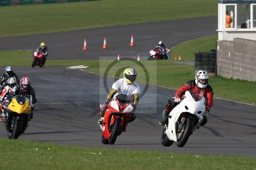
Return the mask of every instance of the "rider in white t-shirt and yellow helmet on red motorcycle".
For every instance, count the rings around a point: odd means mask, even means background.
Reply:
[[[98,124],[102,124],[103,116],[108,108],[108,103],[112,98],[116,98],[118,94],[126,94],[129,98],[133,98],[132,106],[134,110],[139,102],[140,86],[135,82],[137,73],[132,68],[127,68],[124,70],[124,78],[117,80],[113,85],[111,90],[108,92],[107,100],[100,104],[100,120]],[[131,118],[129,122],[133,122],[136,119],[136,115],[131,113]]]

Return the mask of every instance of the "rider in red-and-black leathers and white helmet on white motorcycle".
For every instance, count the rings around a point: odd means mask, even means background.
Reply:
[[[168,115],[172,111],[174,107],[180,102],[180,98],[185,94],[186,91],[190,89],[199,89],[203,92],[203,95],[206,99],[205,105],[205,112],[209,114],[210,108],[213,105],[213,90],[211,85],[208,84],[209,81],[209,74],[204,70],[199,70],[196,73],[195,80],[190,80],[186,82],[183,86],[180,87],[179,90],[175,93],[174,99],[169,99],[165,102],[165,108],[163,112],[163,120],[159,121],[159,124],[162,126],[165,125],[168,121]],[[207,122],[207,117],[203,115],[203,121],[201,122],[200,126],[204,126]]]

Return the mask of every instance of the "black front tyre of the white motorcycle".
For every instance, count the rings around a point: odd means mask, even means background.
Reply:
[[[191,118],[187,117],[185,119],[183,129],[184,130],[183,130],[180,138],[178,139],[178,137],[177,137],[177,146],[178,147],[183,147],[188,141],[188,137],[190,136],[190,133],[193,129],[193,121]]]

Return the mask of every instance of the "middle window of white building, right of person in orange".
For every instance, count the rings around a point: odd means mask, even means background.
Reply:
[[[249,4],[237,4],[237,28],[250,28],[250,11]]]

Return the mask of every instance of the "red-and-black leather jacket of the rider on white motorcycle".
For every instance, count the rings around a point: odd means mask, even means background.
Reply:
[[[206,100],[205,106],[208,106],[210,109],[213,105],[213,100],[212,100],[213,90],[209,84],[206,86],[206,88],[202,89],[202,88],[197,87],[195,80],[190,80],[190,81],[186,82],[183,86],[181,86],[179,90],[176,91],[175,97],[176,96],[182,97],[186,91],[188,91],[190,89],[195,89],[195,88],[197,88],[203,92],[204,98]],[[197,89],[195,89],[195,90],[197,90]]]

